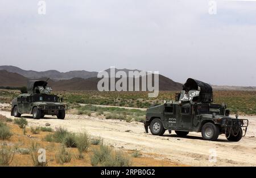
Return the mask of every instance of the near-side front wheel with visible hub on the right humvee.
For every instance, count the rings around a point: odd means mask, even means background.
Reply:
[[[204,140],[217,140],[218,135],[220,134],[220,130],[216,125],[211,122],[205,123],[201,130],[202,136]]]

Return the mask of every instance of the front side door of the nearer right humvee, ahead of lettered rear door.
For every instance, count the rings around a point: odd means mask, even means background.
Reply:
[[[181,106],[181,128],[192,129],[192,110],[191,106]]]

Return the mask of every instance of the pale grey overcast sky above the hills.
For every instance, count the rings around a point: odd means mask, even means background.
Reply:
[[[0,65],[61,72],[159,71],[256,86],[256,1],[0,1]]]

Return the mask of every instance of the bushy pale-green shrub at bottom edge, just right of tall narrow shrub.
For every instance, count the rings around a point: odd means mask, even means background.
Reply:
[[[90,163],[93,166],[103,164],[104,162],[106,162],[107,159],[109,159],[111,152],[112,148],[104,144],[101,144],[100,148],[95,148],[93,150],[93,154],[90,157]]]

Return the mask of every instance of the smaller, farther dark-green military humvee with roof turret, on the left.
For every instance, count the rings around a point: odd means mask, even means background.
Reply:
[[[20,117],[21,114],[32,114],[34,119],[44,115],[57,115],[58,119],[65,118],[67,105],[61,104],[62,98],[50,94],[51,87],[47,81],[28,81],[28,93],[20,94],[11,101],[11,115]]]

